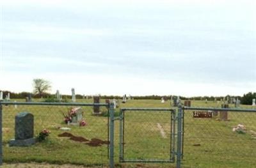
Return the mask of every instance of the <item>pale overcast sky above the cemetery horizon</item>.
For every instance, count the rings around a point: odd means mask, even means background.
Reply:
[[[256,3],[6,1],[0,89],[71,95],[256,92]]]

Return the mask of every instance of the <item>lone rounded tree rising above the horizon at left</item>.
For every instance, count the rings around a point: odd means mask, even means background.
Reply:
[[[33,92],[41,97],[51,89],[51,84],[49,81],[44,79],[33,79],[33,88]]]

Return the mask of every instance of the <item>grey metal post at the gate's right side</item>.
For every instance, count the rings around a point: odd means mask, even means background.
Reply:
[[[179,105],[178,107],[178,130],[177,130],[177,168],[181,167],[181,148],[182,148],[182,113],[183,113],[183,109],[182,106]]]

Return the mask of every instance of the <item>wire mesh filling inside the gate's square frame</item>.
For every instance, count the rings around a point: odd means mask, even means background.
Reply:
[[[172,111],[124,109],[123,112],[121,161],[173,162]]]

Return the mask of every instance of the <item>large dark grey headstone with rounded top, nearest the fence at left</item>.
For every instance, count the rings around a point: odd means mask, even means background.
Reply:
[[[20,112],[15,116],[15,139],[10,146],[31,146],[35,144],[34,116],[28,112]]]

